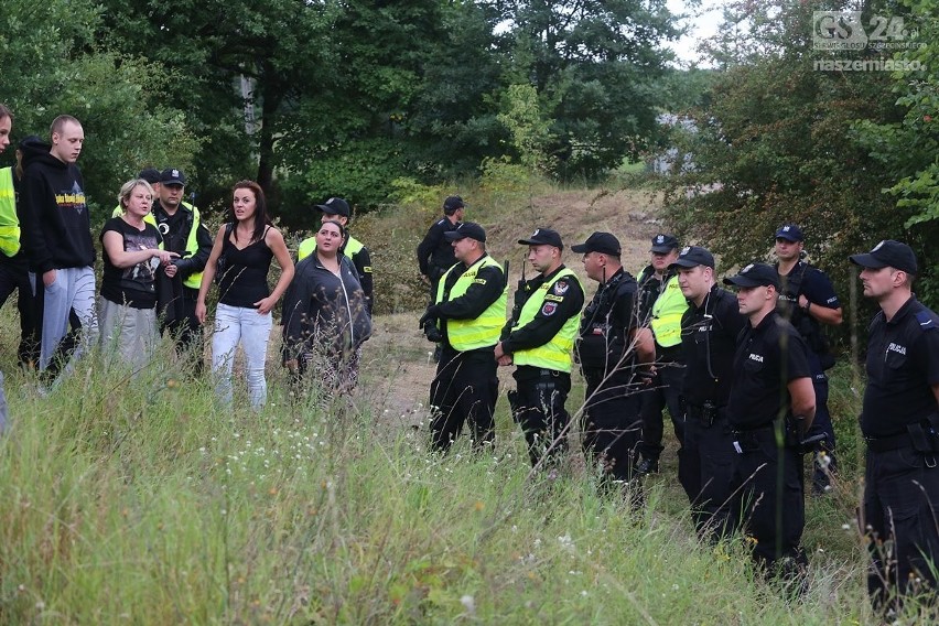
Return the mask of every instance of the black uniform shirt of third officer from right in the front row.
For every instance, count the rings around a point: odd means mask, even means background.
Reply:
[[[689,404],[727,403],[737,337],[746,326],[736,296],[716,284],[702,306],[689,305],[681,319],[681,349],[687,365],[682,389]]]

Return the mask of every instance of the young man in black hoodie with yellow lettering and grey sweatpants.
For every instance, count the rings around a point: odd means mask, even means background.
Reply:
[[[95,246],[85,181],[75,164],[85,132],[72,116],[52,122],[52,145],[28,144],[23,153],[23,247],[35,273],[42,311],[40,371],[57,371],[97,338]],[[68,326],[72,325],[72,333]]]

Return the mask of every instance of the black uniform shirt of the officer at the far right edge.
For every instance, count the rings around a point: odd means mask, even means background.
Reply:
[[[939,316],[916,296],[887,322],[874,316],[867,342],[867,387],[861,430],[864,436],[906,432],[937,412],[932,385],[939,382]]]

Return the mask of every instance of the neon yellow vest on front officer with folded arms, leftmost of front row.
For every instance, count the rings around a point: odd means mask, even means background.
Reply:
[[[436,285],[436,303],[443,302],[444,284],[446,277],[457,266],[453,266]],[[456,279],[453,288],[450,290],[449,300],[455,300],[466,293],[470,285],[476,281],[476,274],[483,268],[496,267],[503,271],[503,267],[493,260],[492,257],[483,257],[471,266],[463,274]],[[503,290],[501,294],[495,302],[479,314],[475,320],[447,320],[446,336],[450,338],[450,345],[460,352],[495,346],[499,343],[499,333],[506,323],[506,301],[508,300],[508,285]]]

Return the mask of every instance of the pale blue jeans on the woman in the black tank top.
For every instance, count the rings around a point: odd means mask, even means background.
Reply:
[[[215,310],[215,334],[212,337],[212,371],[216,377],[215,392],[230,404],[231,367],[238,343],[245,350],[245,377],[251,407],[260,409],[268,399],[265,361],[273,320],[261,315],[257,309],[219,304]]]

